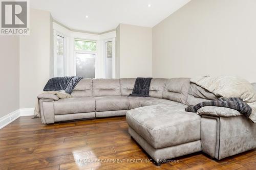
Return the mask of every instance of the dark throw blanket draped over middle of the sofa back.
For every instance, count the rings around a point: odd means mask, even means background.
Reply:
[[[150,83],[152,78],[138,77],[135,81],[133,92],[129,96],[148,97],[150,96]]]

